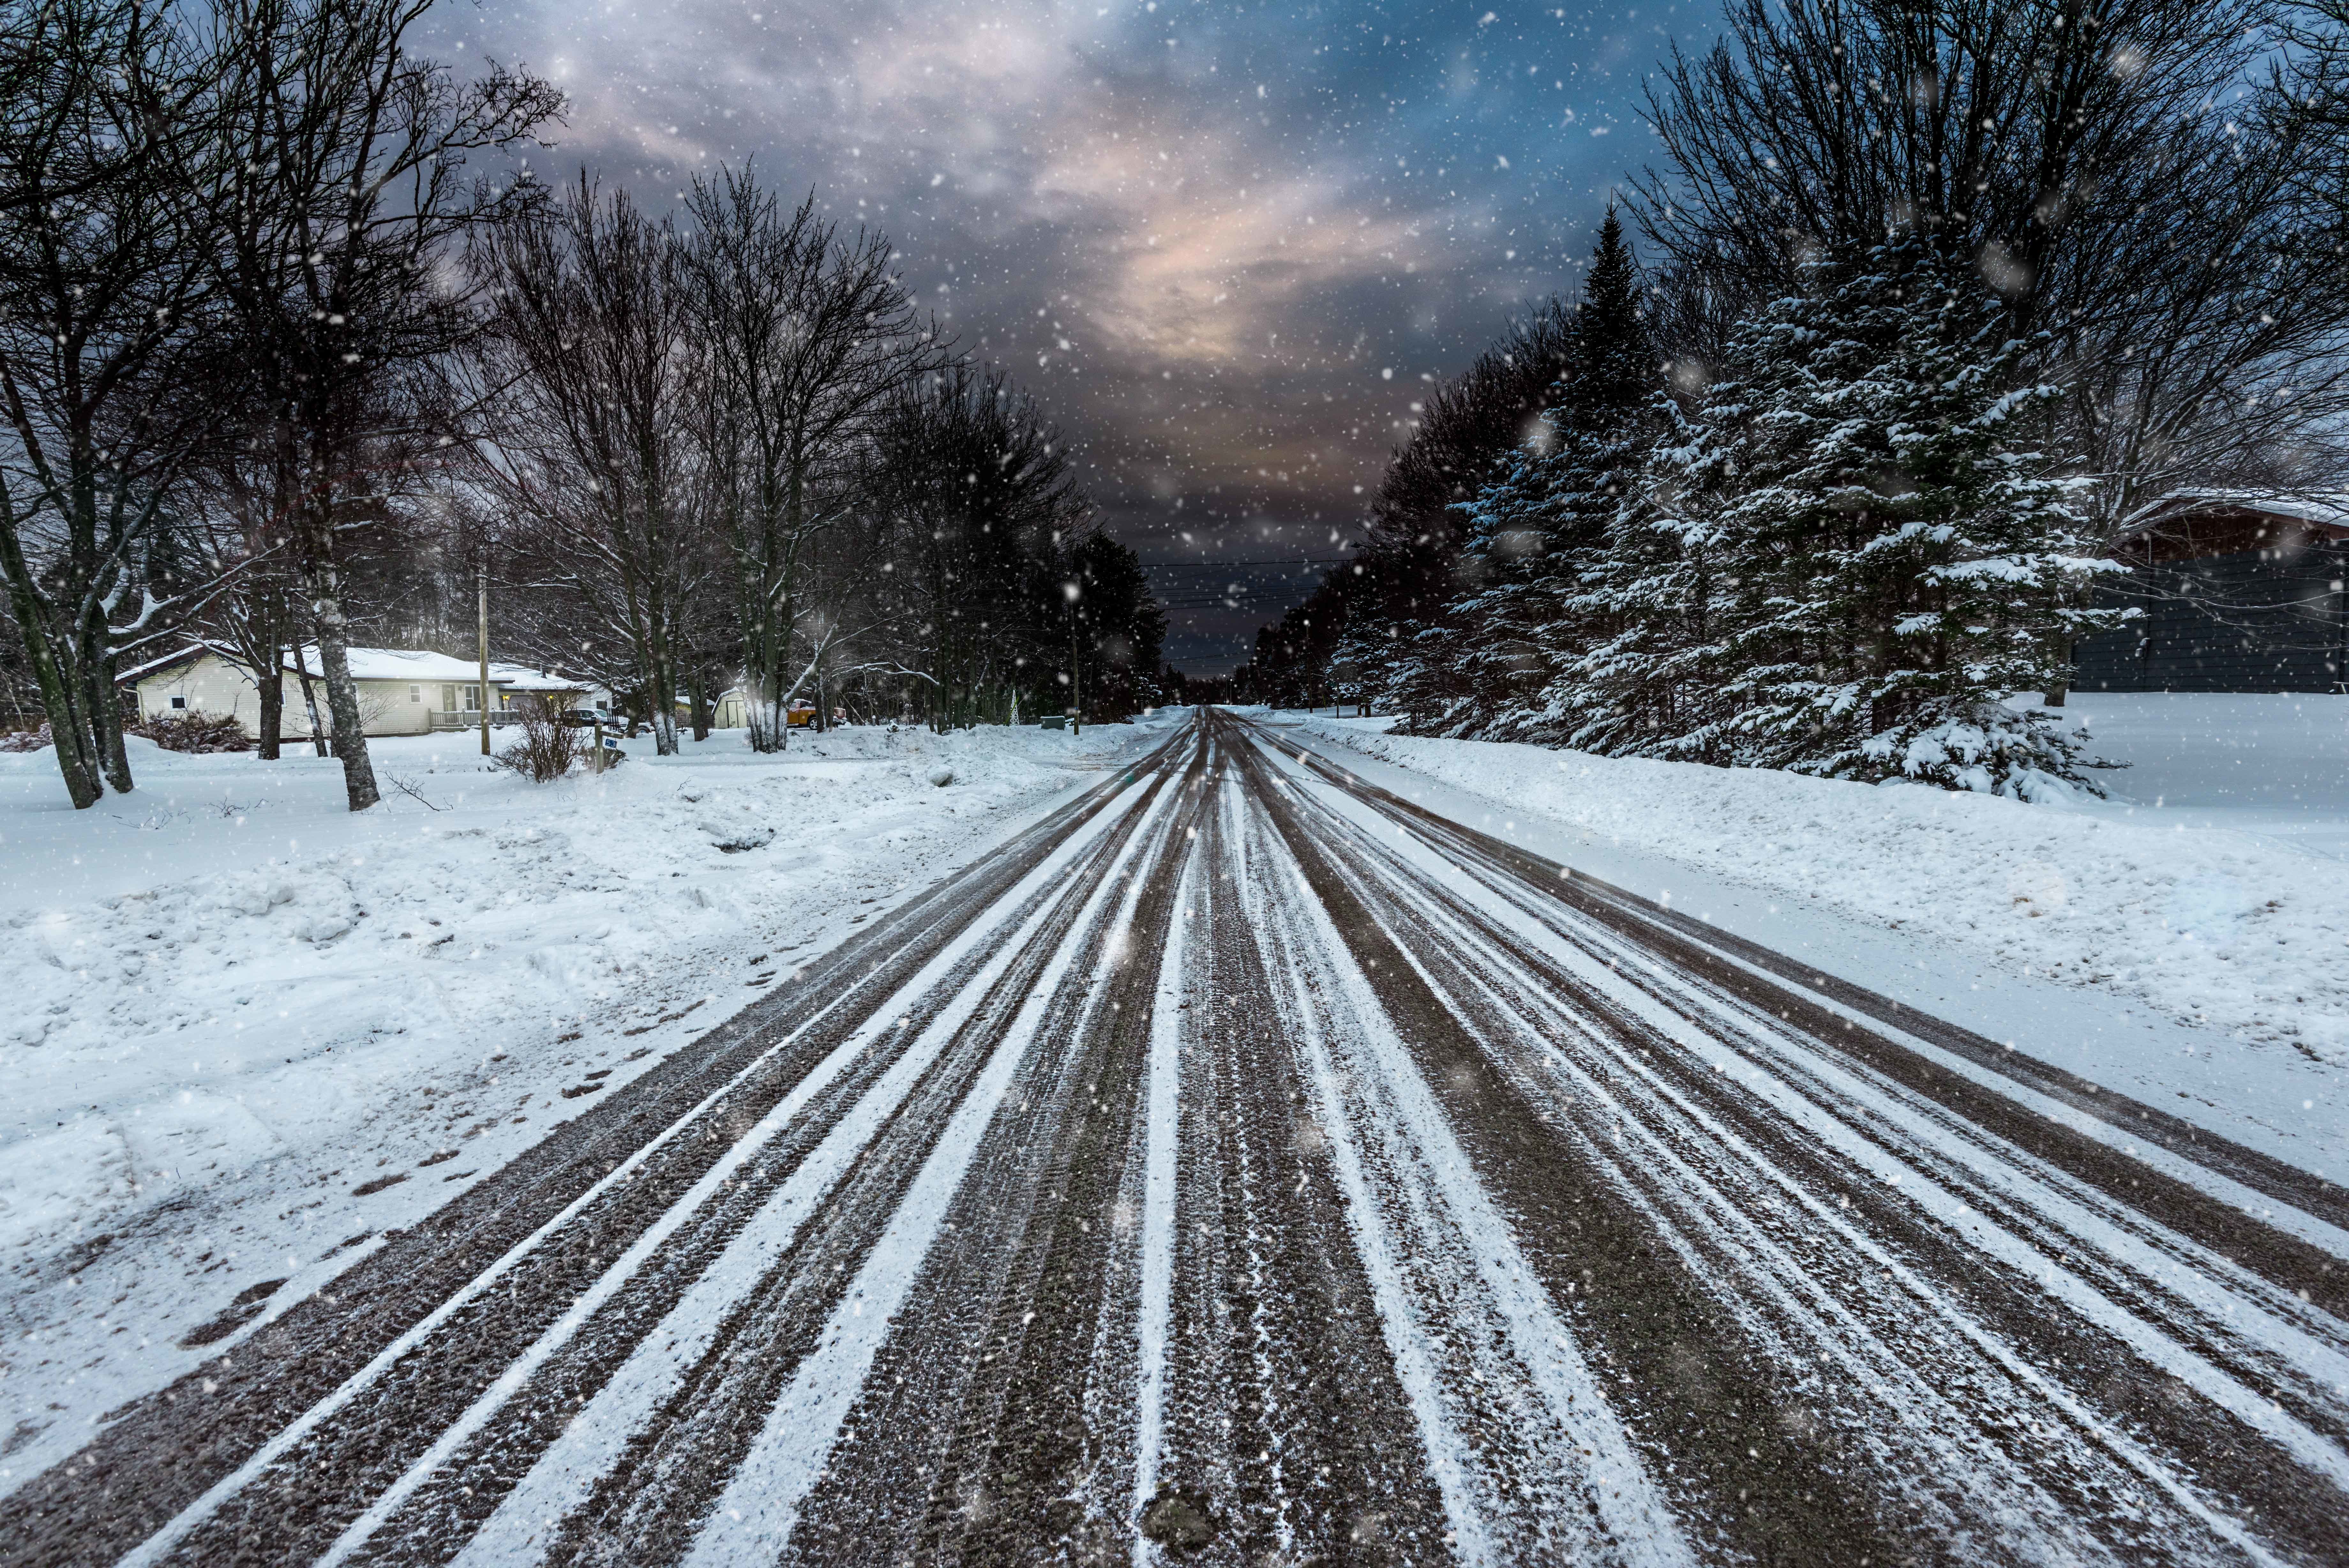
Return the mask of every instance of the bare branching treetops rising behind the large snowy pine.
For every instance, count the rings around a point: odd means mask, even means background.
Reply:
[[[2107,531],[2178,482],[2316,458],[2349,414],[2349,275],[2302,200],[2323,139],[2253,94],[2274,9],[1734,0],[1729,40],[1651,92],[1668,341],[1907,228],[2044,334],[2027,374],[2067,388],[2060,449]]]

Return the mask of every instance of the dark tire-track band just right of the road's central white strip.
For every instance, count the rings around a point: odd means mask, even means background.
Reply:
[[[1233,882],[1243,811],[1221,788],[1189,905],[1151,1507],[1184,1563],[1440,1559],[1442,1497]]]

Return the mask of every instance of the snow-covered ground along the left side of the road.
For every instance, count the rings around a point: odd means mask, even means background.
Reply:
[[[308,748],[134,741],[82,813],[0,757],[0,1490],[1170,722],[726,731],[554,785],[392,738],[364,816]]]

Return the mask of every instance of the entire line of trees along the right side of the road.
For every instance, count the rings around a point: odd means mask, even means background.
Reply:
[[[1362,559],[1243,682],[1426,733],[2084,780],[2008,698],[2060,705],[2121,621],[2121,522],[2340,477],[2344,61],[2337,12],[2257,0],[1736,0],[1651,101],[1651,270],[1609,216],[1541,416],[1555,308],[1431,404]]]

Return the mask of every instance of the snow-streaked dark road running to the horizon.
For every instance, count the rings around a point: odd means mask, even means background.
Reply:
[[[2349,1194],[1224,715],[9,1563],[2349,1561]]]

